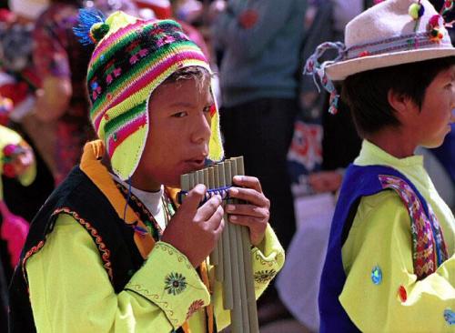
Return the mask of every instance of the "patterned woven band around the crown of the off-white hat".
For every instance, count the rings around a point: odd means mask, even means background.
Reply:
[[[434,37],[430,32],[410,35],[399,35],[375,43],[353,45],[343,53],[342,60],[350,60],[369,55],[382,55],[390,52],[409,51],[413,49],[429,48],[429,45],[452,47],[450,40]]]

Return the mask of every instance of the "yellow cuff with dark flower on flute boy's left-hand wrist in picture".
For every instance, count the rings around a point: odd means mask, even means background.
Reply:
[[[126,285],[161,308],[174,328],[179,328],[210,295],[187,257],[175,247],[157,242],[147,262]]]

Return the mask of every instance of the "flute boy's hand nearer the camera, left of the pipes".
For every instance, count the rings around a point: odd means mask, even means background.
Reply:
[[[224,227],[221,197],[211,197],[198,207],[205,193],[203,185],[189,191],[161,237],[187,256],[193,267],[198,267],[210,254]]]

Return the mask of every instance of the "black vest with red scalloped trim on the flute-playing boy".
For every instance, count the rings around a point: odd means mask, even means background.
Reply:
[[[56,211],[60,211],[62,208],[77,214],[79,223],[86,227],[89,235],[94,239],[101,257],[106,253],[106,249],[109,251],[108,260],[111,269],[108,273],[116,293],[123,290],[131,275],[144,262],[133,238],[134,229],[118,217],[116,210],[105,195],[76,166],[66,177],[64,183],[57,187],[47,199],[32,221],[20,264],[15,268],[9,290],[10,332],[36,331],[28,296],[28,284],[24,275],[24,258],[26,261],[26,258],[39,250],[40,242],[43,244],[45,237],[54,228],[58,215]],[[101,237],[105,247],[100,247],[98,244],[100,238],[97,242],[92,230],[96,230],[97,236]],[[71,260],[71,257],[68,257],[68,260]]]

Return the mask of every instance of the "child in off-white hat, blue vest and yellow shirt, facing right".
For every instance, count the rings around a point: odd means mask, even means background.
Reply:
[[[331,94],[343,81],[363,145],[332,221],[319,289],[321,332],[453,332],[455,219],[417,146],[440,146],[455,121],[455,48],[427,0],[386,0],[319,45],[306,72]],[[326,49],[334,61],[319,64]]]

